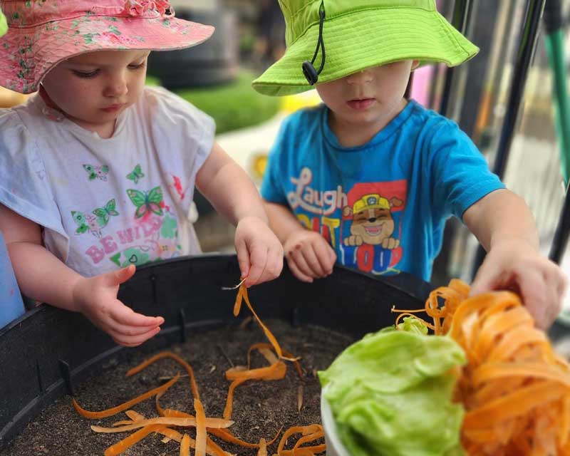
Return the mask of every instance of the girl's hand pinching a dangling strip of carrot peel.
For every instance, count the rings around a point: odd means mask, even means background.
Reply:
[[[276,279],[283,269],[283,247],[266,222],[244,217],[236,227],[235,246],[246,286]]]

